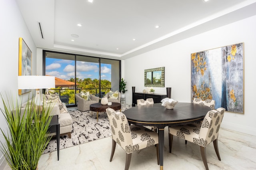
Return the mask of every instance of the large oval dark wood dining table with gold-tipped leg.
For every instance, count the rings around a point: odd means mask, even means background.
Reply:
[[[158,127],[160,170],[164,169],[164,128],[202,121],[211,108],[194,103],[177,103],[174,109],[166,109],[162,103],[135,106],[123,113],[130,124]]]

